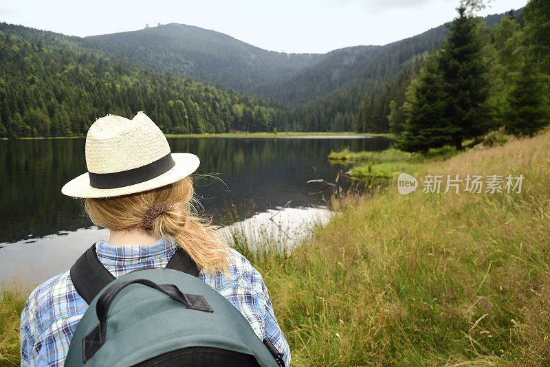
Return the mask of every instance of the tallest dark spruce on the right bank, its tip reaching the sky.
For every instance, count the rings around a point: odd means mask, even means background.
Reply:
[[[463,4],[457,9],[459,16],[451,23],[438,58],[445,91],[443,115],[455,128],[452,142],[457,149],[462,148],[463,140],[489,129],[485,104],[489,94],[487,62],[483,55],[481,20],[472,14],[473,11],[468,12]]]

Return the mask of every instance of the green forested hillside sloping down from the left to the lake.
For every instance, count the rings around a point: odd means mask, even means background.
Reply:
[[[140,110],[165,133],[272,131],[278,113],[234,91],[82,52],[63,35],[0,25],[0,137],[81,135],[102,115]]]

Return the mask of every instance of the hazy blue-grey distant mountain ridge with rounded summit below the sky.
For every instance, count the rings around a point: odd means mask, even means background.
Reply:
[[[501,16],[493,14],[484,20],[492,26]],[[89,52],[295,107],[345,89],[358,78],[365,80],[369,70],[382,71],[386,81],[396,78],[402,68],[396,68],[395,63],[405,65],[410,58],[439,47],[445,34],[446,27],[441,25],[384,46],[345,47],[327,54],[286,54],[254,47],[213,30],[171,23],[78,38],[76,43]],[[388,60],[388,53],[397,55],[397,59],[390,57],[393,64],[377,65]]]

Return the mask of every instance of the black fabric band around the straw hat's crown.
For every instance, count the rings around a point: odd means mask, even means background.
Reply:
[[[161,159],[157,159],[155,162],[146,164],[142,167],[132,168],[131,170],[123,170],[122,172],[114,173],[91,173],[90,186],[93,188],[122,188],[124,186],[135,185],[154,179],[168,172],[170,168],[175,166],[176,162],[172,158],[172,153],[168,153]]]

